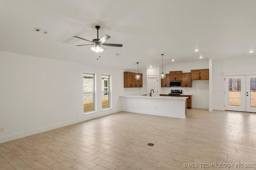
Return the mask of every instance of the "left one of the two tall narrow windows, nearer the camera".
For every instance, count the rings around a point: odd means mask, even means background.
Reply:
[[[84,113],[95,111],[94,74],[84,73]]]

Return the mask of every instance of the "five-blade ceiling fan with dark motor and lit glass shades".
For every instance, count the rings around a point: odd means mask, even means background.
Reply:
[[[91,44],[83,44],[83,45],[76,45],[76,46],[94,45],[93,47],[91,47],[91,50],[94,51],[95,53],[100,53],[105,50],[105,48],[102,45],[113,46],[113,47],[122,47],[123,46],[122,44],[104,43],[106,40],[108,40],[110,38],[110,36],[105,35],[101,39],[99,39],[100,26],[95,26],[95,28],[97,29],[97,39],[93,39],[92,41],[90,41],[90,40],[86,40],[86,39],[78,37],[78,36],[74,36],[74,38],[79,38],[81,40],[91,42]]]

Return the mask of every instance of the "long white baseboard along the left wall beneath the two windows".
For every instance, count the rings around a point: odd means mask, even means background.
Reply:
[[[16,133],[16,134],[10,134],[10,135],[7,135],[7,136],[2,136],[2,137],[0,137],[0,143],[8,142],[10,140],[15,140],[15,139],[18,139],[18,138],[23,138],[23,137],[30,136],[30,135],[37,134],[37,133],[41,133],[41,132],[46,132],[48,130],[52,130],[52,129],[55,129],[55,128],[60,128],[60,127],[72,125],[72,124],[75,124],[75,123],[88,121],[90,119],[95,119],[95,118],[98,118],[98,117],[110,115],[110,114],[120,112],[120,111],[122,111],[122,109],[115,109],[115,110],[111,109],[109,111],[95,112],[94,114],[89,113],[88,115],[85,114],[84,117],[82,117],[82,118],[80,117],[79,119],[74,119],[74,120],[71,120],[71,121],[62,122],[62,123],[58,123],[58,124],[55,124],[55,125],[50,125],[50,126],[47,126],[47,127],[41,127],[41,128],[28,130],[28,131],[25,131],[25,132],[19,132],[19,133]]]

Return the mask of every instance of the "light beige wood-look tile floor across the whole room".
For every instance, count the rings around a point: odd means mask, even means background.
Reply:
[[[244,169],[255,170],[256,114],[188,109],[186,119],[176,119],[119,112],[0,144],[1,170],[242,169],[212,163],[251,163]]]

